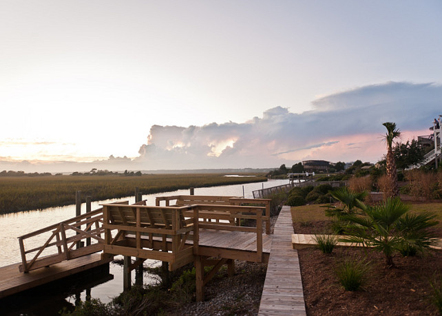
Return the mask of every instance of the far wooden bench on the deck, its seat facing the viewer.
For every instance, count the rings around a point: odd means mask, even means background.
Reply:
[[[253,206],[264,207],[262,214],[262,221],[266,224],[266,234],[270,234],[270,199],[246,199],[235,196],[160,196],[155,200],[156,206],[160,206],[161,202],[165,202],[165,206],[183,206],[194,204],[215,204],[215,205],[236,205],[236,206]],[[220,221],[229,221],[231,224],[236,223],[240,226],[241,221],[231,218],[229,213],[223,213],[223,211],[216,211],[215,214],[212,211],[200,210],[200,218],[208,221],[211,218],[213,221],[220,223]],[[213,216],[216,215],[216,216]]]

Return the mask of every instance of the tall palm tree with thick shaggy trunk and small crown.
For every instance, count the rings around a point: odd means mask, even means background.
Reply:
[[[399,187],[397,185],[397,170],[396,161],[394,160],[393,154],[393,141],[401,136],[401,131],[396,128],[396,123],[386,122],[382,124],[387,129],[387,134],[384,136],[387,142],[387,158],[386,158],[386,169],[387,177],[390,182],[388,192],[386,192],[386,197],[394,198],[399,196]]]

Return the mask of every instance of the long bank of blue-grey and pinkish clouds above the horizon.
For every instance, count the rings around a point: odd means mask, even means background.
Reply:
[[[45,171],[81,171],[93,167],[265,168],[282,163],[291,166],[306,159],[376,162],[385,153],[381,136],[386,129],[382,123],[397,123],[403,140],[430,134],[432,120],[442,114],[441,104],[442,86],[435,83],[367,85],[318,98],[313,101],[313,110],[302,114],[277,106],[244,123],[153,125],[147,142],[140,146],[139,156],[133,159],[110,156],[89,163],[60,161],[37,165]],[[3,161],[0,168],[35,171],[36,164]]]

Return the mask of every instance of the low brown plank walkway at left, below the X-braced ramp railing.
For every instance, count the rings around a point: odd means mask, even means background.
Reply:
[[[65,260],[28,273],[19,271],[20,264],[3,266],[0,268],[0,298],[59,280],[63,277],[83,272],[109,262],[110,260],[101,260],[101,253],[94,253],[72,260]]]

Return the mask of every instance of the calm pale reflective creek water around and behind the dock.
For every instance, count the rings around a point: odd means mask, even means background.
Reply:
[[[277,185],[285,185],[288,180],[269,180],[268,182],[256,182],[248,183],[244,185],[227,185],[222,187],[208,187],[208,188],[196,188],[195,195],[200,196],[243,196],[245,198],[253,198],[252,191],[275,187]],[[73,192],[74,194],[74,192]],[[189,190],[178,190],[165,193],[155,193],[143,196],[143,200],[147,199],[148,205],[155,205],[155,198],[157,196],[171,196],[171,195],[187,195]],[[134,197],[120,198],[118,200],[129,200],[129,203],[134,203]],[[99,202],[92,202],[92,210],[97,209],[99,204],[105,202],[115,202],[116,200],[103,200]],[[85,204],[81,206],[82,213],[85,212]],[[43,209],[41,211],[25,211],[19,213],[10,213],[6,215],[0,215],[0,266],[6,266],[9,264],[15,264],[21,262],[20,248],[18,237],[48,227],[52,224],[56,224],[63,220],[73,218],[75,216],[75,205],[68,205],[66,207],[52,207],[50,209]],[[31,243],[26,243],[26,249],[30,249],[33,246],[41,246],[46,238],[34,239]],[[34,244],[32,244],[34,243]],[[145,266],[156,266],[160,262],[154,260],[147,260]],[[91,290],[91,295],[94,298],[101,299],[102,302],[109,302],[112,297],[120,294],[123,291],[123,274],[122,266],[118,264],[110,264],[110,273],[114,275],[114,280],[110,280],[98,286],[94,286]],[[134,277],[134,273],[132,273]],[[149,278],[149,275],[145,275],[145,283],[155,282]],[[134,280],[133,280],[134,281]],[[85,299],[85,291],[81,293],[81,299]],[[66,297],[67,302],[74,303],[75,297]]]

